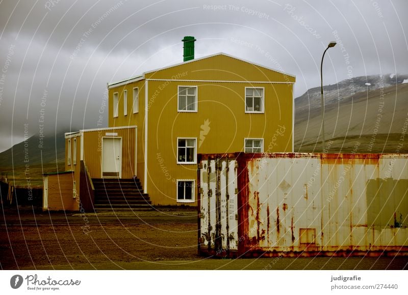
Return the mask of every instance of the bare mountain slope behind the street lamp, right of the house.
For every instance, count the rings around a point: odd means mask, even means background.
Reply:
[[[339,89],[341,89],[340,93],[344,94],[347,82],[342,82],[339,83],[342,85]],[[378,82],[373,82],[378,85]],[[315,95],[316,91],[309,93],[314,97],[314,103],[311,104],[310,109],[304,107],[304,95],[299,97],[299,102],[296,104],[294,128],[296,152],[322,150],[319,137],[320,103],[316,101],[320,100],[320,93],[318,95]],[[315,98],[316,96],[319,98]],[[331,93],[329,92],[330,98],[327,103],[325,99],[325,105],[327,105],[325,139],[326,147],[329,145],[329,152],[351,152],[356,143],[360,144],[358,153],[408,152],[408,142],[400,141],[404,122],[408,119],[408,84],[398,83],[385,88],[379,87],[376,90],[359,92],[349,97],[338,96],[334,99],[334,96],[332,90]],[[330,143],[330,139],[333,142]]]

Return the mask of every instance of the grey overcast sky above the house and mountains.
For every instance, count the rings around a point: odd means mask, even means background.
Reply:
[[[325,84],[406,74],[407,11],[406,0],[2,1],[0,151],[24,124],[29,135],[95,128],[107,82],[182,62],[184,36],[196,57],[225,52],[296,75],[296,97],[320,84],[332,40]]]

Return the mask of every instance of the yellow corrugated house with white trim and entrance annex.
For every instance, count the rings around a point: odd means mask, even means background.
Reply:
[[[77,138],[91,182],[135,176],[153,205],[196,206],[198,154],[293,152],[294,82],[225,53],[148,71],[108,84],[109,127],[67,134],[66,150]]]

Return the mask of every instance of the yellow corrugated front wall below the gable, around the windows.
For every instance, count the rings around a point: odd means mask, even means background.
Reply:
[[[198,86],[198,112],[177,112],[178,85]],[[196,165],[176,163],[177,137],[196,137],[198,153],[243,151],[244,138],[264,138],[265,152],[292,151],[292,85],[257,85],[265,87],[264,114],[245,113],[245,86],[251,85],[149,81],[155,101],[148,119],[148,193],[154,204],[180,204],[176,180],[196,179]]]

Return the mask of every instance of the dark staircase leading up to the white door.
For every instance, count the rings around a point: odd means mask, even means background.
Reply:
[[[139,179],[92,179],[96,211],[151,210],[148,194],[143,193]]]

